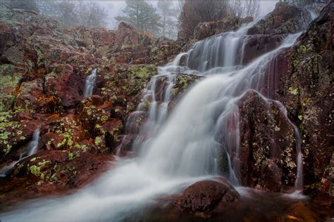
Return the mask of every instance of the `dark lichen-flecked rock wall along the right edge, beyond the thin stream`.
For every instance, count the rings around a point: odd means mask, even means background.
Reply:
[[[333,2],[287,51],[280,100],[302,134],[304,183],[326,190],[333,155]]]

